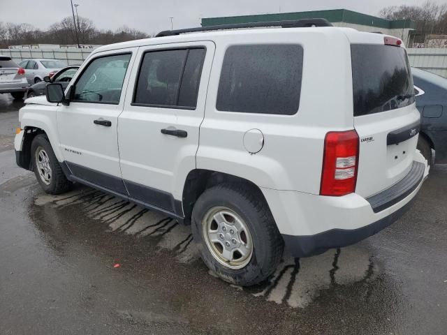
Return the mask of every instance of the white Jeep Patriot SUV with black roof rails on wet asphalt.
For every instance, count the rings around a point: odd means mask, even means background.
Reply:
[[[428,174],[402,41],[321,19],[105,45],[46,94],[20,110],[17,164],[47,193],[78,182],[191,224],[237,285],[268,278],[284,247],[386,228]]]

